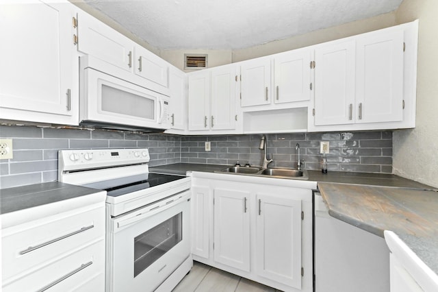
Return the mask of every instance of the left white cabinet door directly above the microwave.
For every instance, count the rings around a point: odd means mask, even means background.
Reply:
[[[86,12],[77,17],[77,49],[132,72],[134,42]]]

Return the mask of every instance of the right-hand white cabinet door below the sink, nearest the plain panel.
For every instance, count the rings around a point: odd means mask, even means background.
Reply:
[[[257,194],[257,274],[301,289],[301,201]]]

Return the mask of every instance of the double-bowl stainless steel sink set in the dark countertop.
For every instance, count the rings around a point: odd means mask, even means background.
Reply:
[[[309,180],[309,175],[307,175],[307,171],[287,168],[261,169],[261,167],[227,167],[226,169],[215,172],[255,175],[264,177],[269,176],[271,178],[290,178],[294,180]]]

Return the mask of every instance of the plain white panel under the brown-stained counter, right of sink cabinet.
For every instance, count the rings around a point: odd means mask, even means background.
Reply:
[[[315,292],[388,292],[385,239],[335,219],[315,193]]]

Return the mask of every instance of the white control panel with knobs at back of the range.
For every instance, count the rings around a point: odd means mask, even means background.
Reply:
[[[58,152],[60,171],[79,171],[135,165],[149,162],[149,150],[142,149],[75,149]]]

